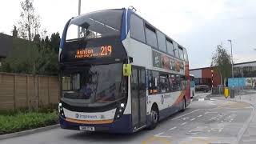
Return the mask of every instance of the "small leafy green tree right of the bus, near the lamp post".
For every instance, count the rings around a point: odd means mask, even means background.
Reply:
[[[222,82],[225,82],[226,78],[231,75],[230,54],[228,54],[222,46],[217,46],[217,50],[212,57],[210,66],[214,67],[214,70],[218,71],[221,75]]]

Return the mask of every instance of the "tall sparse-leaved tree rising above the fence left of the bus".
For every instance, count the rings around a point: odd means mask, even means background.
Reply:
[[[41,27],[39,15],[34,14],[33,0],[25,0],[21,2],[22,11],[21,19],[18,21],[19,37],[29,40],[34,39],[35,35],[39,34]]]

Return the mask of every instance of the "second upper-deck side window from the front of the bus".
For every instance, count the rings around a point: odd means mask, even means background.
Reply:
[[[146,43],[150,46],[158,47],[157,34],[155,33],[154,27],[145,23],[146,30]]]

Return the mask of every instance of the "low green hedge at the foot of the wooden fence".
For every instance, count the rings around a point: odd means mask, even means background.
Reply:
[[[30,130],[57,123],[58,112],[52,108],[0,111],[0,134]]]

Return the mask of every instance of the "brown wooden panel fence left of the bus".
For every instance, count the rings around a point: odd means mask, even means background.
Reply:
[[[0,110],[46,106],[58,100],[56,76],[0,73]]]

